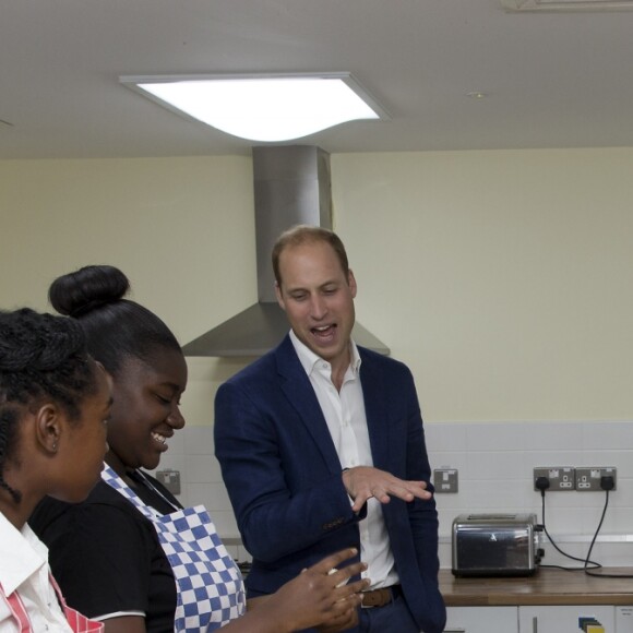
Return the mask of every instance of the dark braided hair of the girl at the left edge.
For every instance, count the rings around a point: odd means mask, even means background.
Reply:
[[[3,471],[16,449],[24,408],[51,398],[77,422],[82,402],[96,391],[96,365],[77,323],[28,308],[0,311],[0,488],[16,503],[22,495]]]

